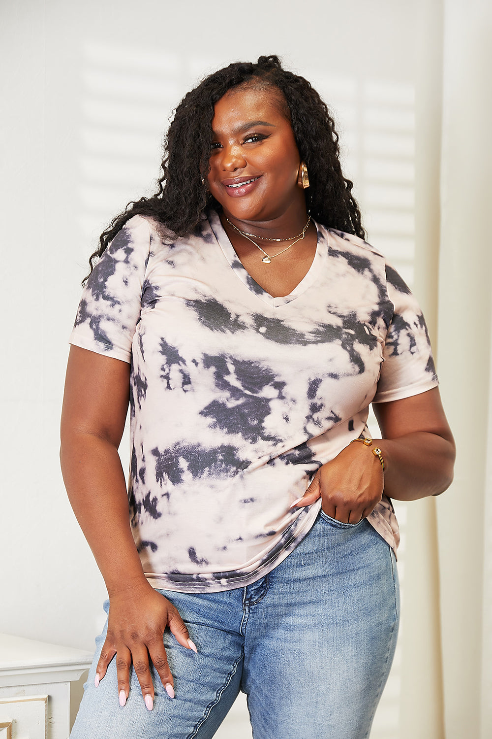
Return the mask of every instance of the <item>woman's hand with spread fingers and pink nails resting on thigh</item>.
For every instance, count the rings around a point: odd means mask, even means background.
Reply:
[[[108,633],[97,663],[96,687],[116,655],[119,703],[124,706],[130,692],[133,664],[145,705],[153,707],[154,689],[149,658],[170,698],[174,698],[173,675],[167,662],[163,634],[169,627],[177,641],[196,652],[187,627],[176,608],[148,582],[112,593],[109,599]]]

